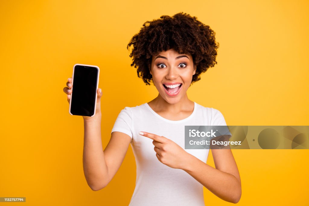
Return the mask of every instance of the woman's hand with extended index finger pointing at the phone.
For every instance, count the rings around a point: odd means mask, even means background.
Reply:
[[[139,133],[142,136],[153,139],[158,160],[171,168],[184,169],[189,161],[190,154],[171,139],[148,132]]]

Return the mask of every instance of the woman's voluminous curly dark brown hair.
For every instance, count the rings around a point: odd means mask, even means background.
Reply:
[[[192,55],[197,69],[190,85],[201,79],[201,73],[217,64],[219,43],[215,41],[215,32],[195,16],[183,12],[146,21],[139,33],[132,37],[127,49],[131,45],[131,67],[138,68],[138,77],[142,77],[146,85],[153,83],[150,74],[152,55],[156,56],[163,50],[175,49],[180,54]]]

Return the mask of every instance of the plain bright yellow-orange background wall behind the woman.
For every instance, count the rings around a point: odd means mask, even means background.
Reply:
[[[75,63],[100,67],[102,141],[117,115],[157,96],[126,49],[146,20],[186,12],[210,25],[218,64],[188,89],[227,125],[309,125],[308,1],[1,1],[0,196],[23,205],[128,205],[131,146],[92,191],[83,174],[83,119],[62,89]],[[307,205],[309,150],[233,150],[238,205]],[[214,166],[211,153],[208,164]],[[204,188],[206,205],[229,205]],[[0,203],[6,204],[6,203]]]

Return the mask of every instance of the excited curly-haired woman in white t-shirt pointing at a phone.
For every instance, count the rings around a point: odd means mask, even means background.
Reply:
[[[83,117],[83,166],[92,190],[111,181],[131,144],[137,178],[130,205],[205,205],[203,186],[222,200],[239,201],[241,182],[230,148],[212,150],[216,168],[206,164],[209,149],[184,149],[185,125],[226,126],[220,111],[189,100],[186,93],[217,63],[219,44],[214,35],[209,26],[181,12],[147,21],[133,36],[127,46],[133,45],[131,66],[159,94],[148,103],[121,110],[103,151],[98,89],[95,116]],[[67,86],[64,92],[70,101],[71,78]]]

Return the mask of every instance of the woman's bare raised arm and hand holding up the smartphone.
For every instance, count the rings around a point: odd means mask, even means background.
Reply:
[[[72,94],[72,78],[68,79],[63,91],[70,102]],[[87,184],[93,191],[104,188],[114,177],[125,158],[131,137],[122,132],[112,132],[105,150],[101,140],[101,89],[97,90],[96,112],[93,117],[84,119],[83,169]]]

